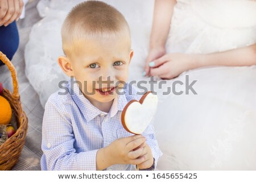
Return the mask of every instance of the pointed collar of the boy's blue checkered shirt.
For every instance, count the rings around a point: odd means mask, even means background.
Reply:
[[[97,117],[97,115],[105,113],[104,111],[101,111],[100,109],[98,109],[97,107],[95,107],[94,105],[92,105],[92,103],[90,103],[90,101],[84,97],[84,95],[82,94],[79,85],[76,84],[75,82],[75,78],[73,80],[74,84],[71,84],[71,81],[69,80],[68,82],[68,89],[69,89],[69,93],[71,94],[71,97],[73,99],[73,101],[75,101],[77,107],[79,107],[81,113],[84,115],[86,121],[92,121],[92,119],[94,119],[95,117]],[[125,92],[121,92],[120,94],[117,95],[117,97],[114,98],[112,107],[110,108],[110,117],[113,117],[115,114],[117,114],[117,111],[122,111],[123,108],[126,106],[127,104],[127,99],[125,96]]]

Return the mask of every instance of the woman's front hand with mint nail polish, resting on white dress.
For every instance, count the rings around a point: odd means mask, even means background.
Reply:
[[[182,72],[196,68],[194,63],[196,55],[171,53],[149,63],[150,76],[155,75],[163,79],[172,79]]]

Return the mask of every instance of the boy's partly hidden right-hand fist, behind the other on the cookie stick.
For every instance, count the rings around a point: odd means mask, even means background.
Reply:
[[[140,169],[147,169],[147,168],[150,168],[153,165],[154,158],[153,158],[153,155],[152,155],[151,148],[150,148],[150,146],[148,146],[148,144],[146,144],[143,147],[143,153],[140,156],[140,158],[144,158],[144,162],[138,164],[138,167]]]

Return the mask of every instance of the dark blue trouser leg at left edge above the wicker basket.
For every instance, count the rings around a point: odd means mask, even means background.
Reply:
[[[16,22],[9,24],[9,26],[0,27],[0,51],[2,51],[8,59],[13,59],[13,55],[19,47],[19,34]],[[0,66],[4,65],[0,61]]]

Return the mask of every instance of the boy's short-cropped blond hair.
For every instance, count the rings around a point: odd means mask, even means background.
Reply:
[[[131,46],[130,30],[125,17],[113,6],[101,1],[85,1],[73,7],[61,28],[65,55],[89,39],[119,38]]]

